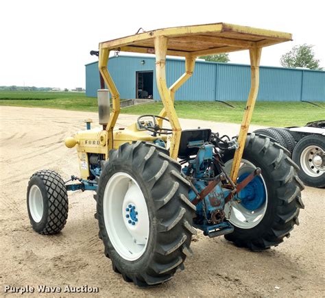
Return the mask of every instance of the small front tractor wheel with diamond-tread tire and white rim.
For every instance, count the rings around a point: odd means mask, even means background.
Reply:
[[[68,218],[67,188],[55,171],[38,171],[29,179],[27,211],[33,229],[39,234],[60,232]]]

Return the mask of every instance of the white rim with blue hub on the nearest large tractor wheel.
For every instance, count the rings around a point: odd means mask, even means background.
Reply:
[[[149,215],[141,188],[129,174],[115,173],[108,180],[103,214],[106,231],[117,253],[125,260],[139,259],[147,248]]]

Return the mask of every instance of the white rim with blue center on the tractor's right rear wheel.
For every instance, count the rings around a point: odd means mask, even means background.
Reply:
[[[225,164],[225,170],[227,173],[230,173],[231,166],[232,160],[228,160],[228,162]],[[244,175],[247,175],[247,173],[252,173],[252,171],[255,169],[256,166],[254,166],[252,162],[242,159],[238,173],[239,180],[241,180],[241,176],[244,178]],[[225,214],[228,216],[228,221],[230,221],[230,223],[232,223],[232,225],[235,227],[240,227],[241,229],[252,229],[252,227],[255,227],[258,225],[258,223],[261,223],[267,210],[267,188],[263,176],[259,175],[258,177],[255,177],[250,183],[263,184],[264,191],[261,192],[261,188],[258,190],[260,192],[258,194],[261,196],[263,195],[263,198],[257,198],[258,201],[254,203],[249,203],[248,201],[243,201],[243,203],[230,201],[224,208]],[[249,186],[250,184],[248,184],[246,187]],[[230,208],[230,206],[232,207]],[[256,209],[252,210],[252,206],[256,206]]]

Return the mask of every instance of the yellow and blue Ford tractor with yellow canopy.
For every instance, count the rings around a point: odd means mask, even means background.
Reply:
[[[191,256],[197,229],[238,247],[276,247],[298,225],[304,185],[285,147],[248,134],[258,93],[263,47],[291,34],[213,23],[171,27],[99,43],[99,127],[65,140],[77,149],[80,177],[65,181],[51,170],[29,179],[27,210],[39,234],[56,234],[68,216],[68,191],[92,190],[104,253],[126,282],[147,287],[171,280]],[[251,86],[238,136],[209,128],[182,130],[174,107],[178,88],[202,55],[248,50]],[[110,52],[151,53],[163,110],[139,116],[123,129],[116,123],[120,96],[108,71]],[[171,86],[166,56],[184,58],[184,74]],[[107,89],[106,89],[107,88]],[[110,111],[110,99],[112,110]],[[198,111],[200,112],[200,111]]]

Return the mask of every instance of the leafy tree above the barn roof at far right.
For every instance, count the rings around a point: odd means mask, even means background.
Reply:
[[[303,67],[305,69],[322,70],[320,60],[315,59],[313,45],[306,45],[305,43],[304,45],[296,45],[291,51],[282,55],[280,64],[290,69]]]

